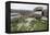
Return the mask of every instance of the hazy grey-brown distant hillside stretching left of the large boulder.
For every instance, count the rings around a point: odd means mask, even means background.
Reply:
[[[13,10],[11,9],[11,13],[20,13],[22,15],[32,15],[34,14],[34,11],[30,11],[30,10]]]

